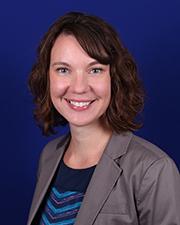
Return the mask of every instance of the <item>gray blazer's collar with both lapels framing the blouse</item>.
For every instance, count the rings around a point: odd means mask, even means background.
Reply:
[[[88,185],[75,225],[93,224],[103,203],[121,175],[122,169],[116,163],[116,159],[126,153],[132,135],[131,132],[121,135],[112,134]],[[43,164],[43,167],[46,169],[42,168],[40,173],[27,225],[31,225],[42,203],[69,140],[70,135],[61,138],[61,140],[57,139],[55,142],[52,142],[52,145],[48,145],[48,148],[51,148],[54,153]],[[98,198],[94,197],[95,193]]]

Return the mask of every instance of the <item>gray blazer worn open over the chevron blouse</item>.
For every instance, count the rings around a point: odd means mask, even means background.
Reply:
[[[47,192],[69,138],[42,152],[27,225]],[[89,183],[75,225],[180,225],[180,175],[155,145],[113,134]]]

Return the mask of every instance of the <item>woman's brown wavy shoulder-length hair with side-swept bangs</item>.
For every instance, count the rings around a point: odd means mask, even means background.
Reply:
[[[103,124],[116,133],[140,128],[142,124],[137,122],[137,114],[143,108],[144,90],[132,56],[117,32],[104,20],[70,12],[60,17],[44,35],[29,77],[35,103],[34,117],[43,133],[52,134],[55,126],[68,123],[52,104],[49,84],[51,49],[62,33],[73,35],[91,58],[110,65],[111,101],[102,116]]]

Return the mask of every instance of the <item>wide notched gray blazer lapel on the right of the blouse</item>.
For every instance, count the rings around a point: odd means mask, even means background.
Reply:
[[[130,132],[112,135],[87,188],[75,225],[92,225],[111,193],[122,169],[116,159],[126,153],[131,140]]]

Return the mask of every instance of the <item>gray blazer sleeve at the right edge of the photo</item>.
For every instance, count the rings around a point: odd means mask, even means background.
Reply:
[[[168,157],[147,169],[138,192],[141,225],[180,225],[180,174]]]

